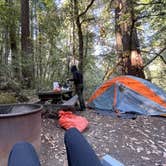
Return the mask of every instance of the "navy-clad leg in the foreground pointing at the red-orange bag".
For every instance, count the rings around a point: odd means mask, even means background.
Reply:
[[[65,133],[68,166],[102,166],[92,147],[76,128]]]

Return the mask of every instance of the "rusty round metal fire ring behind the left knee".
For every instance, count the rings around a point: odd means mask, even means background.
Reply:
[[[6,166],[9,152],[18,141],[32,143],[39,152],[41,105],[0,105],[0,166]]]

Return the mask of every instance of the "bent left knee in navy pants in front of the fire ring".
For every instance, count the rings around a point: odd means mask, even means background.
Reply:
[[[40,166],[34,147],[28,142],[16,143],[9,155],[8,166]]]

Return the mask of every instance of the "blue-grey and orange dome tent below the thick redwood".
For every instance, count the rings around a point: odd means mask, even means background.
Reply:
[[[166,93],[147,80],[119,76],[103,83],[90,97],[88,106],[107,112],[165,115]]]

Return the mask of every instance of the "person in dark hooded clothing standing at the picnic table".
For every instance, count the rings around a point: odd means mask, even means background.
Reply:
[[[78,95],[80,109],[82,111],[85,111],[86,107],[85,107],[85,102],[84,102],[84,98],[83,98],[83,76],[77,70],[77,67],[75,65],[71,66],[71,73],[73,75],[73,78],[69,79],[69,81],[74,82],[75,93]]]

